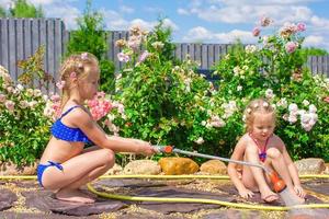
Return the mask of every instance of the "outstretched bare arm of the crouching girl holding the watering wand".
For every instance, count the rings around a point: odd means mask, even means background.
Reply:
[[[101,148],[109,148],[114,152],[135,152],[146,153],[148,155],[155,153],[150,143],[146,141],[133,138],[106,136],[104,130],[81,108],[77,108],[71,114],[71,120],[92,142]]]

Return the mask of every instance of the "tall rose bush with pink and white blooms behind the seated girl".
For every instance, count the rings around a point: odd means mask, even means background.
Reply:
[[[265,20],[262,27],[272,22]],[[270,36],[261,36],[262,27],[257,27],[253,34],[259,37],[258,45],[236,49],[215,67],[215,73],[220,77],[216,100],[236,101],[239,108],[224,129],[230,139],[239,138],[245,131],[243,108],[250,100],[265,97],[277,110],[275,132],[292,157],[328,160],[329,105],[326,97],[329,81],[320,76],[313,77],[303,66],[306,60],[300,48],[305,24],[286,23]],[[236,143],[226,142],[227,148]]]

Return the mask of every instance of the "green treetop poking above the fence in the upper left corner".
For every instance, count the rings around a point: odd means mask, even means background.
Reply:
[[[35,7],[26,0],[14,0],[13,8],[9,10],[10,16],[13,18],[44,18],[42,7]]]

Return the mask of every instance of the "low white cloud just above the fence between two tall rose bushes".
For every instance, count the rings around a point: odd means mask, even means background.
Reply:
[[[241,39],[242,43],[256,43],[256,38],[250,32],[232,30],[227,33],[213,33],[203,26],[196,26],[191,28],[183,37],[183,42],[205,42],[205,43],[218,43],[228,44],[234,43],[236,39]]]

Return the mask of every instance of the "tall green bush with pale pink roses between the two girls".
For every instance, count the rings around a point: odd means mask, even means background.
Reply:
[[[128,42],[117,42],[123,47],[118,59],[125,67],[117,76],[113,99],[123,104],[124,116],[112,111],[102,126],[106,131],[155,145],[207,153],[220,151],[218,129],[224,124],[207,112],[208,104],[213,104],[208,96],[214,91],[212,83],[194,72],[196,65],[192,60],[175,66],[164,57],[162,49],[170,43],[155,42],[157,35],[162,33],[158,30],[145,35],[139,27],[133,27]],[[139,50],[141,44],[148,50]],[[202,122],[209,122],[208,128]],[[218,147],[201,147],[203,141]]]

